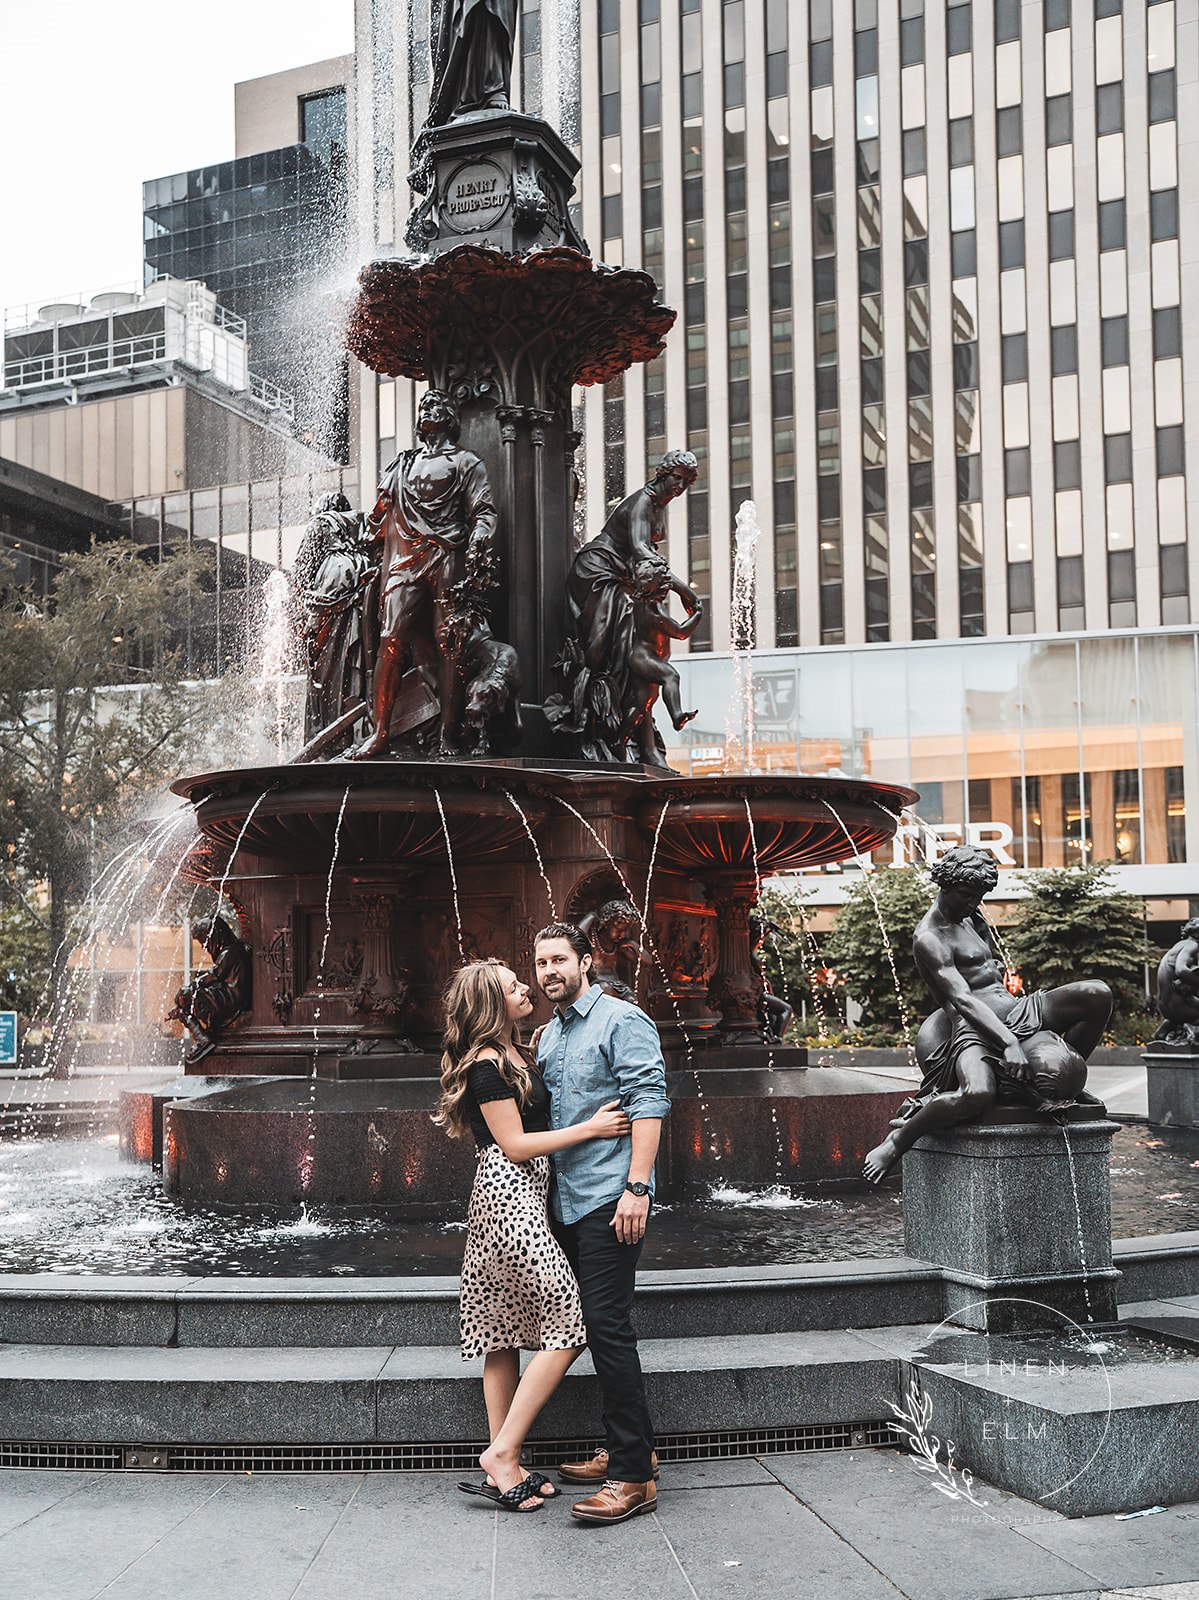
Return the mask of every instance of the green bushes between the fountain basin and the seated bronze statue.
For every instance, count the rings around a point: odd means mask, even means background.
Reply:
[[[776,955],[767,950],[772,984],[783,992],[784,978],[792,1003],[797,1003],[800,995],[810,1000],[813,971],[818,966],[823,974],[828,966],[836,973],[834,990],[848,992],[856,1000],[872,1035],[903,1038],[904,1014],[914,1026],[927,1010],[924,981],[912,960],[912,933],[933,898],[935,890],[919,867],[885,867],[869,875],[863,874],[848,891],[837,923],[823,941],[816,958],[810,939],[804,938],[797,896],[772,885],[762,896],[762,910],[781,928],[794,931],[792,939],[780,941]],[[890,941],[903,1005],[892,976],[879,917]],[[839,1008],[842,1003],[824,1002],[829,1008]]]

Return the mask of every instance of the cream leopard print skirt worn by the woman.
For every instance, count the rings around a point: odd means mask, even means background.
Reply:
[[[578,1283],[549,1229],[549,1157],[479,1154],[459,1290],[463,1360],[488,1350],[571,1350],[587,1342]]]

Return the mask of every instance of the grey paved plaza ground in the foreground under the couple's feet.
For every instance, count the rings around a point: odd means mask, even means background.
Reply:
[[[1199,1506],[1069,1520],[892,1450],[671,1466],[656,1515],[519,1517],[461,1474],[0,1472],[3,1600],[1199,1600]]]

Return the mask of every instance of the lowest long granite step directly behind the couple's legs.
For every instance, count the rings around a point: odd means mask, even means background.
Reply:
[[[900,1360],[869,1331],[645,1339],[661,1435],[880,1421]],[[0,1442],[336,1445],[472,1442],[482,1363],[445,1346],[171,1349],[0,1347]],[[594,1438],[600,1395],[584,1354],[539,1438]]]

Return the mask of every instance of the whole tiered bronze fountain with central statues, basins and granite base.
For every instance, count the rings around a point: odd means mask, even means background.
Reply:
[[[306,531],[306,744],[174,784],[202,832],[184,875],[237,896],[247,947],[237,1026],[200,1021],[207,1086],[166,1112],[194,1202],[456,1192],[426,1114],[445,984],[472,954],[520,965],[557,907],[661,1030],[664,1187],[773,1181],[784,1138],[796,1179],[836,1176],[892,1114],[882,1080],[805,1080],[751,915],[764,877],[877,850],[914,795],[671,771],[655,714],[692,715],[671,646],[701,605],[663,547],[698,462],[669,450],[576,550],[573,387],[656,357],[676,314],[579,238],[578,160],[507,106],[512,13],[442,8],[408,253],[359,277],[351,352],[427,389],[368,514],[323,498]]]

